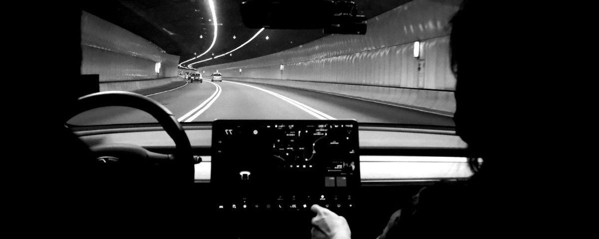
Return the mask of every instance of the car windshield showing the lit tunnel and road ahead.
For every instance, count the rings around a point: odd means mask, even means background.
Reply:
[[[96,79],[89,84],[97,91],[150,97],[183,123],[356,119],[453,127],[449,20],[459,1],[355,3],[365,34],[249,28],[232,0],[87,1],[81,74]],[[156,120],[123,107],[68,121],[147,122]]]

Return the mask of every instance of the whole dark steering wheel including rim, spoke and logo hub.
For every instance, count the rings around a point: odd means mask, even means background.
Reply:
[[[150,180],[146,176],[159,175],[160,177],[155,182],[160,182],[163,185],[181,185],[193,182],[195,160],[189,138],[173,113],[153,99],[128,91],[103,91],[88,94],[78,99],[65,122],[81,112],[105,106],[126,106],[152,115],[173,139],[176,150],[174,154],[158,154],[147,151],[138,145],[123,143],[92,146],[90,149],[96,160],[94,167],[102,168],[104,176],[113,177],[113,180],[122,180],[123,177],[118,179],[114,179],[114,177],[127,175],[128,179],[145,182]]]

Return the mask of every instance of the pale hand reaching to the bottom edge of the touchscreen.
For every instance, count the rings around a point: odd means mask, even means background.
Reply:
[[[344,217],[331,212],[331,210],[312,205],[310,208],[316,216],[312,218],[312,238],[350,239],[352,232]]]

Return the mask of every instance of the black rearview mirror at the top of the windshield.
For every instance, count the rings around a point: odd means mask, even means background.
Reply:
[[[323,29],[324,33],[366,34],[366,17],[352,1],[248,0],[241,2],[246,27]]]

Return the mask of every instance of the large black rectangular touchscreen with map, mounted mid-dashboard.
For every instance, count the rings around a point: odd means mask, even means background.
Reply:
[[[216,209],[307,211],[355,207],[360,186],[356,121],[217,120],[211,184]]]

